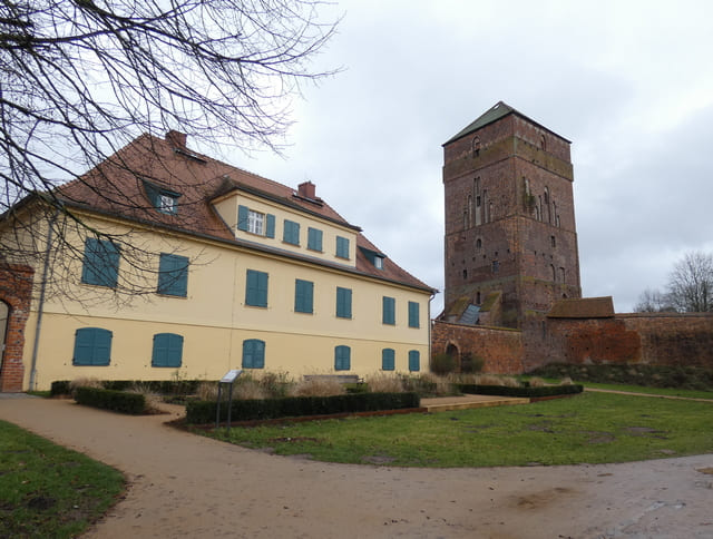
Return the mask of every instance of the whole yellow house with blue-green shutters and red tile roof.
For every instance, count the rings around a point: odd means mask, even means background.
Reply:
[[[13,256],[29,253],[0,267],[12,344],[2,391],[85,376],[216,380],[228,369],[428,370],[436,291],[309,182],[292,189],[170,131],[139,137],[53,195],[66,212],[30,197],[0,224]],[[32,271],[31,298],[1,285]]]

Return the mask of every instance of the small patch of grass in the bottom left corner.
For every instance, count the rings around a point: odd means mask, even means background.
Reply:
[[[124,486],[117,470],[0,421],[0,537],[77,537]]]

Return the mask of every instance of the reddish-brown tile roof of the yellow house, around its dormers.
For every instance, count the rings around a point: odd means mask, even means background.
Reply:
[[[236,239],[211,204],[217,196],[232,190],[248,190],[350,227],[356,233],[358,247],[380,252],[361,234],[359,227],[349,224],[323,200],[301,197],[291,187],[196,154],[182,145],[183,139],[175,136],[178,134],[174,131],[172,134],[174,136],[167,136],[166,139],[141,135],[81,178],[60,186],[56,193],[57,197],[70,207],[101,212],[192,235],[271,251],[267,246],[261,247]],[[176,143],[178,146],[175,145]],[[178,210],[175,215],[156,210],[146,193],[146,183],[180,194],[177,200]],[[285,256],[300,256],[282,249],[272,251]],[[314,258],[310,259],[314,261]],[[378,270],[361,249],[356,248],[356,273],[436,292],[390,258],[387,257],[383,262],[383,270]],[[318,263],[352,271],[336,263]]]

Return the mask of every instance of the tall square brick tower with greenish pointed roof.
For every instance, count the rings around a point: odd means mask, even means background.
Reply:
[[[580,297],[569,140],[502,101],[443,145],[443,318],[522,327]]]

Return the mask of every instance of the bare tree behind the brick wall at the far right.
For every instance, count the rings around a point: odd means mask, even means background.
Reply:
[[[713,255],[692,252],[675,265],[665,292],[645,290],[634,311],[656,313],[676,311],[705,313],[713,311]]]

